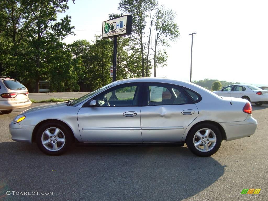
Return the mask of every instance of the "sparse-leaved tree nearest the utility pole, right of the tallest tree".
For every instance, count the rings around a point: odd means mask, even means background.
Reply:
[[[163,5],[156,10],[156,20],[155,20],[155,43],[154,48],[154,77],[156,77],[157,66],[165,66],[167,60],[167,54],[164,50],[158,51],[158,46],[169,47],[169,42],[175,42],[180,36],[179,28],[175,23],[175,13],[171,9],[165,9]]]

